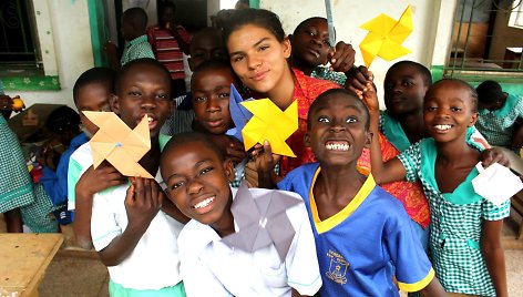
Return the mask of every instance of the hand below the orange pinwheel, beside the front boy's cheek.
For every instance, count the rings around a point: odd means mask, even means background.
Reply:
[[[145,232],[162,208],[165,194],[154,180],[142,177],[131,177],[130,180],[131,186],[125,196],[127,227]]]

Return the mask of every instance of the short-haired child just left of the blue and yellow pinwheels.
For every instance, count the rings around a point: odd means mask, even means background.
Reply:
[[[195,130],[211,134],[224,155],[235,165],[232,186],[238,187],[244,180],[247,154],[243,143],[225,135],[234,126],[229,112],[230,84],[239,88],[239,81],[230,64],[222,61],[202,63],[191,79],[191,92],[195,113]]]

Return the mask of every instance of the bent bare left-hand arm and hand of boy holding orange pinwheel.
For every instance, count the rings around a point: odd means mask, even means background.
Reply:
[[[115,185],[122,184],[124,177],[107,163],[102,163],[96,170],[89,167],[80,177],[74,188],[76,194],[73,231],[80,247],[91,249],[91,214],[94,194]]]

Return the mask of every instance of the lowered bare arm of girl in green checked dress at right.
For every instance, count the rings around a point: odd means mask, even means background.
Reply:
[[[481,231],[481,252],[485,257],[486,268],[494,283],[496,296],[509,296],[506,288],[505,257],[501,246],[503,221],[483,221]]]

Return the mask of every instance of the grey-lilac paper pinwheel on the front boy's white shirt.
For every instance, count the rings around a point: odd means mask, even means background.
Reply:
[[[263,194],[254,197],[245,183],[239,186],[230,206],[238,231],[222,240],[245,252],[255,252],[274,244],[284,262],[296,233],[286,209],[300,201],[281,191],[258,192]]]

